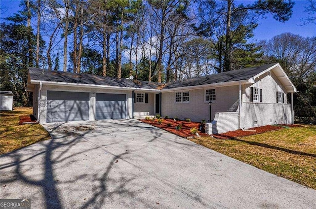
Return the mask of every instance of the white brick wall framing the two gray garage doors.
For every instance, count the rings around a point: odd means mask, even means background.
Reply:
[[[90,120],[95,118],[95,93],[109,93],[109,94],[126,94],[127,95],[127,113],[128,118],[132,118],[132,91],[126,90],[105,90],[98,88],[87,87],[73,87],[73,86],[55,86],[42,85],[40,97],[40,123],[46,123],[46,105],[47,105],[47,91],[77,91],[90,93]],[[92,94],[94,92],[94,95]]]

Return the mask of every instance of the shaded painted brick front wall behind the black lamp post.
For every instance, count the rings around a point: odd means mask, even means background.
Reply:
[[[215,112],[227,112],[238,100],[239,86],[216,87],[216,101],[212,104],[212,119]],[[185,90],[184,90],[185,91]],[[161,111],[162,116],[179,119],[190,118],[192,121],[200,122],[209,120],[209,105],[205,102],[205,89],[190,90],[189,104],[176,104],[174,92],[162,92]]]

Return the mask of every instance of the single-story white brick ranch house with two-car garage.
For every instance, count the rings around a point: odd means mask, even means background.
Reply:
[[[292,124],[297,92],[279,64],[167,84],[30,68],[28,90],[40,123],[160,114],[209,121],[208,134]]]

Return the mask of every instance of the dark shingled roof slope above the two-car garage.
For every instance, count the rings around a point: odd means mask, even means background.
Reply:
[[[158,89],[159,86],[163,85],[162,83],[141,81],[141,80],[130,80],[127,78],[104,77],[100,75],[42,70],[38,68],[29,68],[29,72],[30,72],[30,77],[32,80],[40,80],[40,81],[56,81],[56,82],[94,84],[94,85],[105,85],[105,86],[116,86],[116,87],[143,88],[143,89]]]

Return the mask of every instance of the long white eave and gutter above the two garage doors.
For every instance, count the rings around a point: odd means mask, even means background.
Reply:
[[[99,89],[111,89],[111,90],[141,90],[147,92],[159,92],[159,89],[147,89],[147,88],[135,88],[135,87],[124,87],[124,86],[107,86],[107,85],[96,85],[96,84],[85,84],[85,83],[67,83],[67,82],[58,82],[58,81],[44,81],[44,80],[34,80],[31,79],[31,84],[49,84],[55,86],[76,86],[76,87],[90,87],[90,88],[99,88]]]

